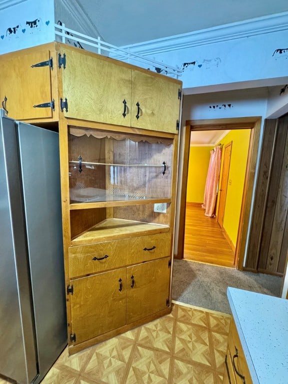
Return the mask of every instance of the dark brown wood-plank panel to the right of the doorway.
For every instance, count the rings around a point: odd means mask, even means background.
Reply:
[[[288,115],[265,120],[245,269],[283,275],[288,248]]]

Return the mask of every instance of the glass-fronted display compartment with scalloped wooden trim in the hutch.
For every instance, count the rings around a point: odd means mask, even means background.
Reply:
[[[71,129],[70,204],[170,199],[172,139]]]

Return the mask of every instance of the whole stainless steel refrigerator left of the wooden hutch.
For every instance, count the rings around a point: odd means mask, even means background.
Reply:
[[[0,377],[38,383],[66,345],[58,133],[0,109]]]

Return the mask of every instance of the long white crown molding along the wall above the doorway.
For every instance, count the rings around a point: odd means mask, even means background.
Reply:
[[[132,53],[151,55],[286,29],[288,29],[288,12],[282,12],[208,29],[124,45],[121,48]]]

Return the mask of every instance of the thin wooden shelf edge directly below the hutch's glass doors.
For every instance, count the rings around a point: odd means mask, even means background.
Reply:
[[[137,200],[77,202],[77,203],[70,204],[70,209],[89,209],[89,208],[102,208],[102,207],[109,207],[109,206],[155,204],[160,202],[170,203],[171,199],[170,198],[141,198]]]

